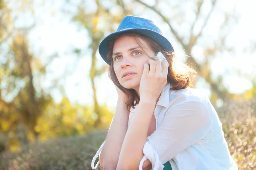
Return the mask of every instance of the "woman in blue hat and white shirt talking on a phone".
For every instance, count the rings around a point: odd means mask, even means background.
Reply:
[[[151,20],[124,17],[99,53],[119,97],[93,169],[99,162],[106,170],[238,169],[209,99],[189,88],[195,71],[175,62],[171,43]]]

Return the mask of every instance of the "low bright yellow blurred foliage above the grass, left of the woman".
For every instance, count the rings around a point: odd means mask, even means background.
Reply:
[[[111,124],[113,113],[107,107],[99,106],[104,113],[99,128],[108,127]],[[40,141],[45,141],[56,136],[74,136],[85,134],[94,129],[97,120],[93,107],[71,105],[67,97],[58,104],[49,103],[43,116],[38,119],[35,130],[40,133]]]

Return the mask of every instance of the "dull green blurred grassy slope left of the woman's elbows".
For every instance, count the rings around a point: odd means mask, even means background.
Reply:
[[[91,170],[91,160],[105,140],[106,131],[50,139],[18,153],[3,153],[0,170]]]

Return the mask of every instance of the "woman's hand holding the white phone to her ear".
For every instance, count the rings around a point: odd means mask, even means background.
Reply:
[[[148,71],[148,64],[150,70]],[[161,72],[162,65],[162,72]],[[140,101],[156,101],[167,84],[169,64],[163,59],[149,59],[144,64],[143,74],[140,80]]]

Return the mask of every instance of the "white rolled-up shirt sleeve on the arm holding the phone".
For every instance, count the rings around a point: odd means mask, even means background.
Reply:
[[[179,100],[167,106],[163,122],[147,137],[139,170],[147,159],[153,170],[163,170],[165,162],[200,142],[209,132],[211,125],[206,105],[201,101]]]

